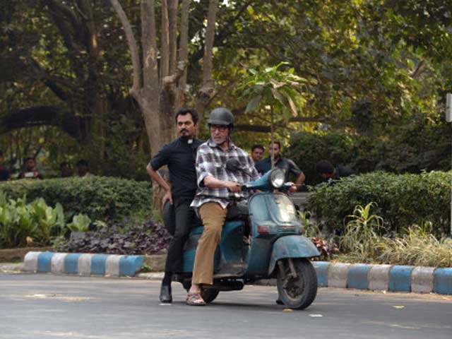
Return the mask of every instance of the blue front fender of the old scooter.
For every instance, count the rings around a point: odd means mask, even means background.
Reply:
[[[316,246],[307,237],[300,235],[287,235],[281,237],[273,244],[268,275],[273,273],[276,263],[284,258],[312,258],[320,256]]]

